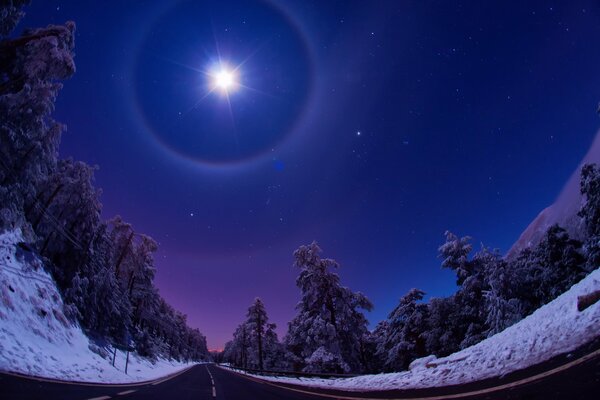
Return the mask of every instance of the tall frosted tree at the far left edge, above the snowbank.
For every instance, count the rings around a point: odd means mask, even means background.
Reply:
[[[22,15],[25,2],[0,5],[0,36]],[[75,71],[75,24],[27,30],[0,41],[0,223],[29,238],[28,210],[40,207],[37,189],[56,166],[64,127],[50,114],[62,84]]]

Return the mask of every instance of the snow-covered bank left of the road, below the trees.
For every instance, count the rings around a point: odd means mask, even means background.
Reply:
[[[50,275],[29,252],[17,250],[19,232],[0,234],[0,371],[82,382],[152,380],[191,364],[147,359],[99,349],[64,316]],[[95,351],[92,351],[94,349]],[[99,355],[104,354],[105,357]]]

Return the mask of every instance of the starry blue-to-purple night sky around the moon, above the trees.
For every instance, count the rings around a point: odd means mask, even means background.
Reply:
[[[453,292],[450,229],[506,251],[599,126],[597,1],[33,0],[77,23],[61,155],[160,243],[157,286],[221,348],[260,296],[285,333],[316,240],[375,304]],[[229,68],[235,87],[214,87]]]

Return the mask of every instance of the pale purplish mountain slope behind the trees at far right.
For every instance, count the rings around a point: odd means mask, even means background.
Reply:
[[[577,216],[577,212],[581,207],[582,197],[579,191],[579,181],[581,167],[588,163],[600,164],[600,132],[596,134],[592,146],[567,181],[556,201],[542,210],[525,231],[523,231],[519,239],[508,251],[506,255],[508,258],[517,255],[525,248],[535,246],[542,239],[548,228],[554,224],[559,224],[565,228],[572,237],[580,237],[582,226],[581,218]]]

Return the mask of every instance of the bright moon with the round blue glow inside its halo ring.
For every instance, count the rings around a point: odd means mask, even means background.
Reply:
[[[144,132],[165,156],[203,171],[269,165],[303,137],[297,126],[317,95],[313,43],[295,16],[271,0],[231,2],[172,2],[146,27],[132,63]],[[256,23],[234,27],[232,7]],[[189,42],[173,41],[190,32]]]

